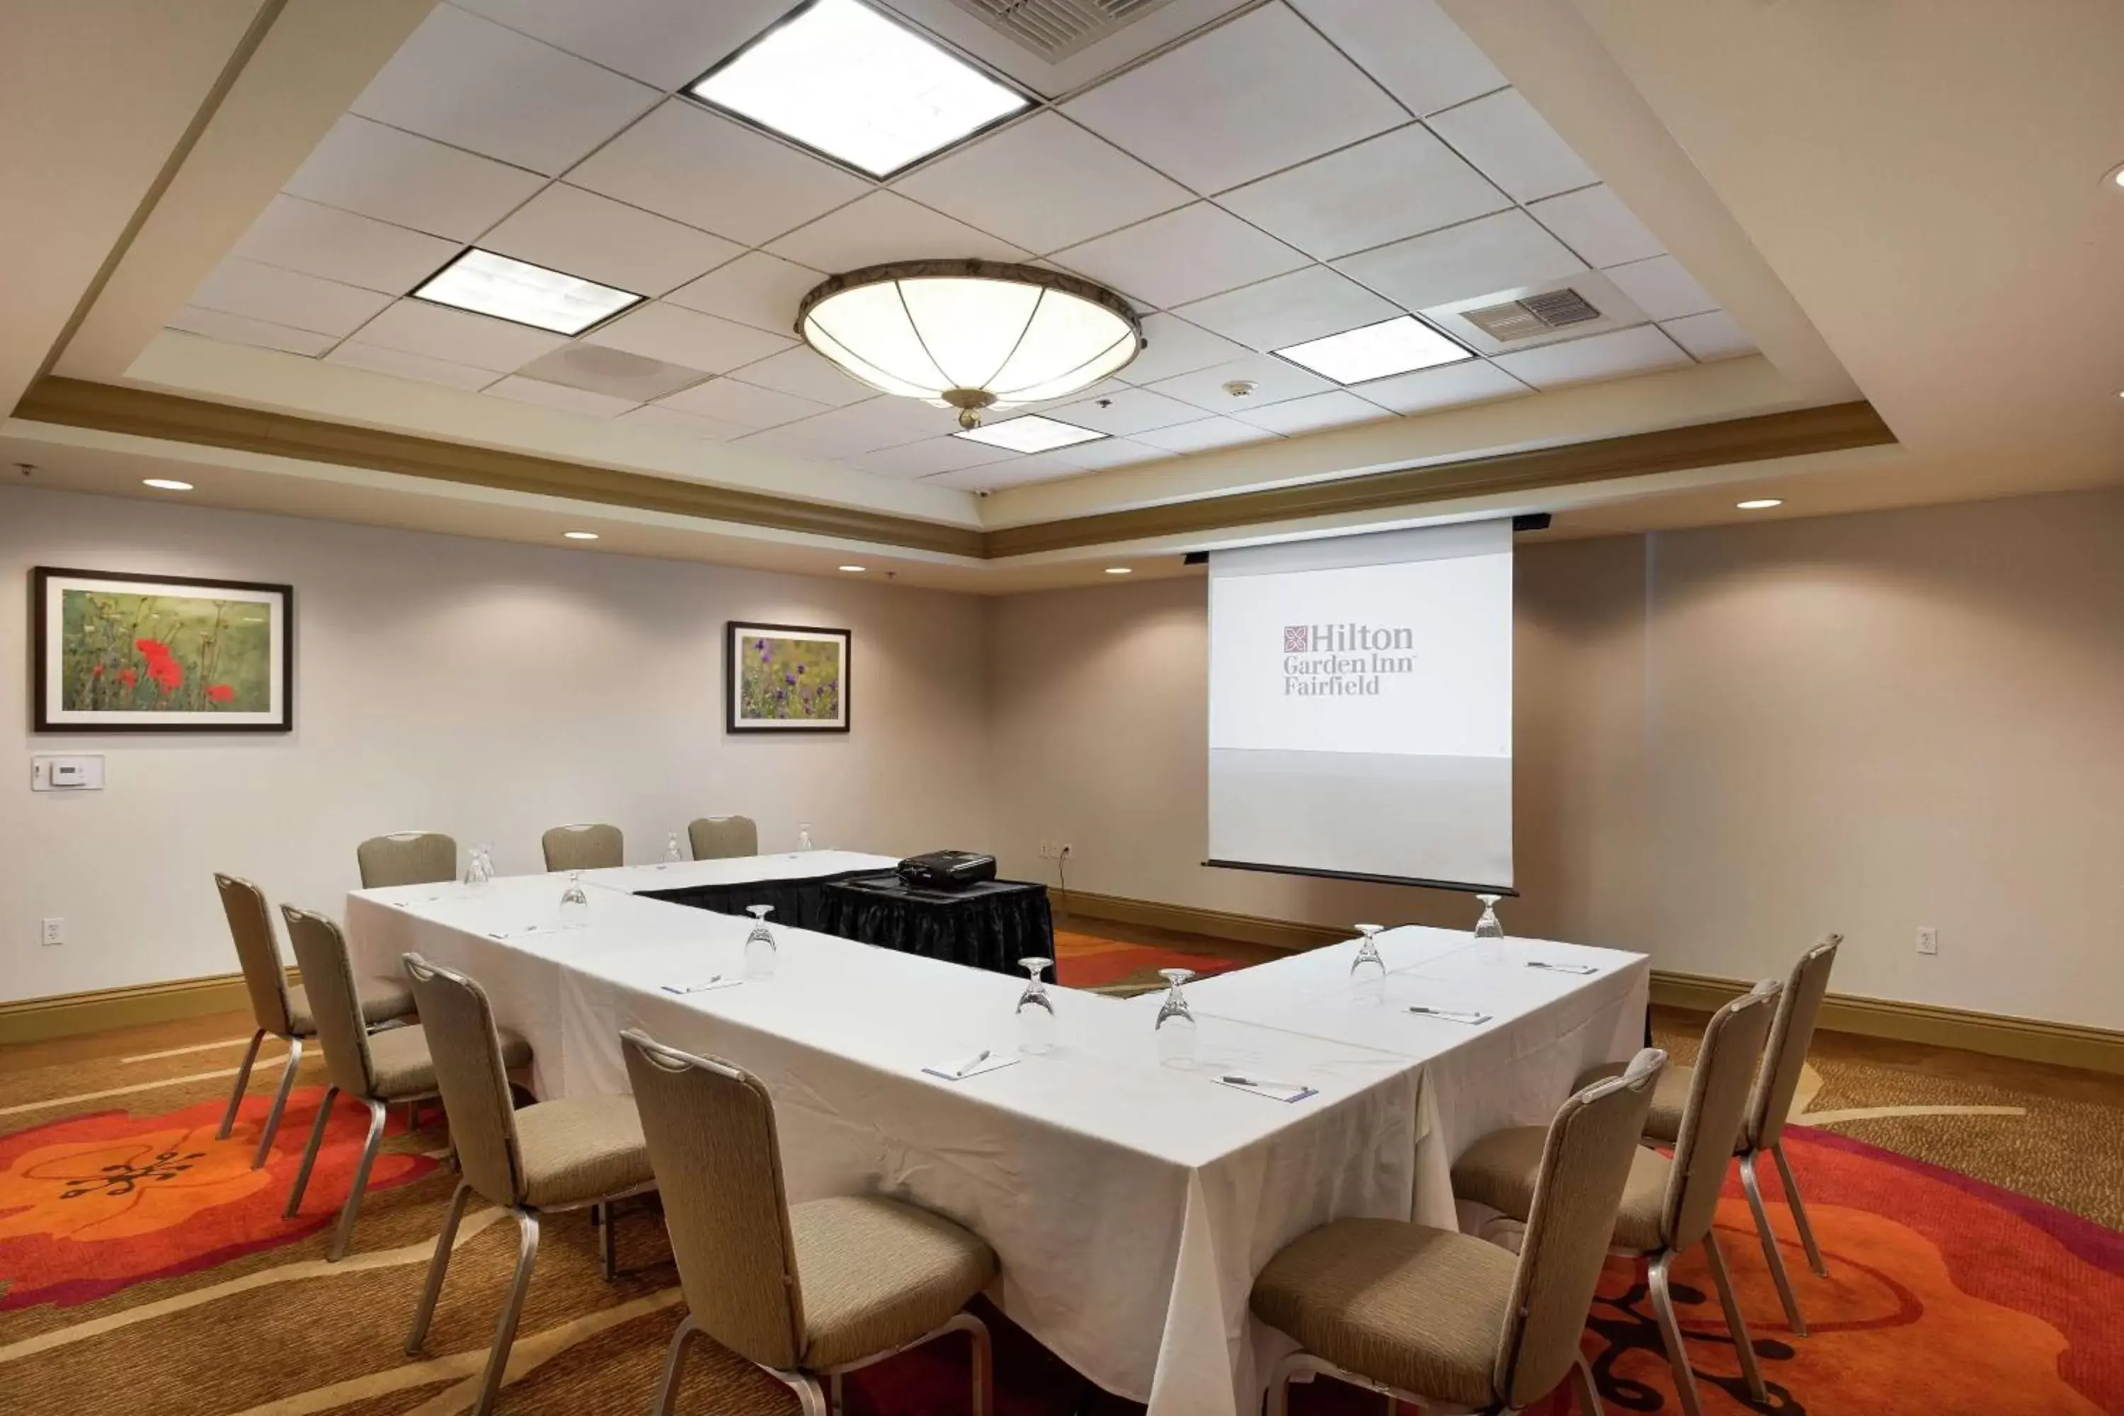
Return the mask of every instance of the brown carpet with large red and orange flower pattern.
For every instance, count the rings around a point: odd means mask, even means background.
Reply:
[[[1134,953],[1100,964],[1111,981],[1158,966]],[[1079,985],[1092,977],[1083,972]],[[350,1119],[333,1125],[304,1212],[282,1221],[321,1068],[302,1068],[274,1159],[251,1172],[268,1068],[236,1134],[215,1140],[240,1053],[234,1028],[223,1036],[178,1051],[0,1066],[0,1410],[465,1410],[514,1257],[512,1227],[495,1223],[493,1210],[467,1216],[429,1357],[408,1359],[404,1329],[452,1180],[435,1159],[442,1136],[393,1123],[355,1257],[327,1265],[325,1229],[344,1195],[357,1129]],[[1689,1051],[1682,1034],[1665,1040]],[[1812,1337],[1793,1340],[1784,1327],[1737,1193],[1718,1221],[1771,1382],[1767,1408],[1742,1397],[1701,1263],[1676,1265],[1710,1416],[2124,1414],[2124,1236],[2103,1227],[2118,1221],[2113,1146],[2124,1108],[2101,1100],[2105,1091],[2056,1100],[2026,1085],[1943,1078],[1937,1068],[1825,1057],[1831,1042],[1818,1047],[1799,1106],[1833,1129],[1795,1129],[1791,1140],[1831,1278],[1808,1274],[1784,1231]],[[2001,1178],[2028,1193],[1986,1182]],[[1776,1202],[1774,1212],[1788,1223]],[[680,1316],[652,1210],[622,1216],[620,1261],[629,1274],[607,1284],[588,1219],[548,1223],[503,1412],[648,1410]],[[1007,1416],[1138,1410],[990,1318]],[[1642,1284],[1625,1263],[1604,1282],[1587,1354],[1610,1412],[1678,1410]],[[964,1361],[952,1342],[873,1367],[850,1380],[847,1410],[962,1412]],[[796,1410],[775,1382],[712,1344],[697,1344],[690,1363],[682,1412]],[[1300,1388],[1294,1410],[1376,1416],[1378,1403],[1319,1382]],[[1551,1403],[1544,1416],[1565,1410]]]

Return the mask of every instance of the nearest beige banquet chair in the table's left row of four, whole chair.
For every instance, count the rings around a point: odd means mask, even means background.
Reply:
[[[962,1331],[973,1337],[973,1412],[994,1410],[988,1325],[964,1310],[996,1278],[986,1242],[884,1195],[790,1206],[775,1108],[756,1076],[641,1032],[620,1034],[620,1049],[688,1308],[656,1416],[671,1416],[697,1335],[780,1378],[803,1416],[826,1416],[841,1410],[841,1374]]]

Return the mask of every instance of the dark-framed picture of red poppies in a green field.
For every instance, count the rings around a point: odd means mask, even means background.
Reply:
[[[32,571],[38,732],[287,732],[295,588]]]

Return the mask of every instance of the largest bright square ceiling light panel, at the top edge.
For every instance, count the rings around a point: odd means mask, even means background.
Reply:
[[[813,0],[688,93],[890,176],[1026,106],[964,59],[856,0]]]

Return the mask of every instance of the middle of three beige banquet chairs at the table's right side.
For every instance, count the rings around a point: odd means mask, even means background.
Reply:
[[[1678,1255],[1699,1244],[1718,1284],[1718,1303],[1725,1308],[1727,1331],[1740,1352],[1748,1395],[1757,1401],[1769,1399],[1754,1363],[1748,1325],[1742,1320],[1740,1303],[1733,1301],[1733,1278],[1718,1250],[1718,1236],[1712,1233],[1712,1216],[1718,1212],[1718,1191],[1725,1189],[1727,1161],[1733,1159],[1733,1142],[1748,1110],[1748,1087],[1763,1057],[1780,989],[1776,979],[1767,979],[1712,1015],[1695,1068],[1684,1068],[1691,1085],[1674,1159],[1650,1146],[1638,1146],[1629,1182],[1623,1187],[1623,1206],[1614,1219],[1610,1253],[1646,1261],[1646,1287],[1652,1293],[1652,1312],[1667,1346],[1674,1391],[1682,1399],[1684,1416],[1701,1416],[1703,1403],[1689,1367],[1689,1350],[1682,1346],[1682,1327],[1674,1316],[1667,1270]],[[1527,1219],[1534,1212],[1542,1146],[1542,1129],[1534,1125],[1491,1132],[1453,1163],[1453,1195],[1487,1204],[1512,1219]]]

